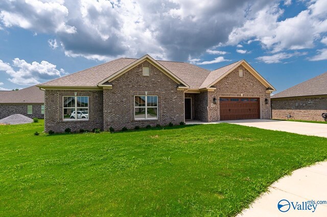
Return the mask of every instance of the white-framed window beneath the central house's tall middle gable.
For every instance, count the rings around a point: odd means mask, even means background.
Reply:
[[[134,107],[135,120],[158,119],[157,96],[135,96]]]

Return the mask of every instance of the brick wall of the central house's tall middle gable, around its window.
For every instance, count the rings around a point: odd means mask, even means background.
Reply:
[[[150,76],[142,68],[150,67]],[[112,81],[112,89],[103,91],[104,129],[179,124],[184,121],[184,91],[149,62],[143,62]],[[158,96],[158,120],[134,120],[134,95]]]

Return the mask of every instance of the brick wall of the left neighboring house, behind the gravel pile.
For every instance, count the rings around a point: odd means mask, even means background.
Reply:
[[[27,114],[27,105],[33,105],[33,114]],[[37,103],[29,104],[0,104],[0,119],[6,118],[11,115],[21,114],[29,118],[43,119],[44,115],[41,114],[41,105]]]

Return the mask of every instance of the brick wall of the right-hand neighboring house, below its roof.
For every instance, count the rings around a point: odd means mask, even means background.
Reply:
[[[295,120],[323,121],[322,113],[327,111],[327,97],[272,99],[272,118],[287,119],[287,115]]]

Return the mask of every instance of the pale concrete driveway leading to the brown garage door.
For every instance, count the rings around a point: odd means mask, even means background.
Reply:
[[[261,119],[219,121],[217,123],[239,124],[243,126],[293,132],[303,135],[316,135],[317,137],[327,138],[327,124],[305,123],[305,122],[295,122],[295,121],[261,120]]]

